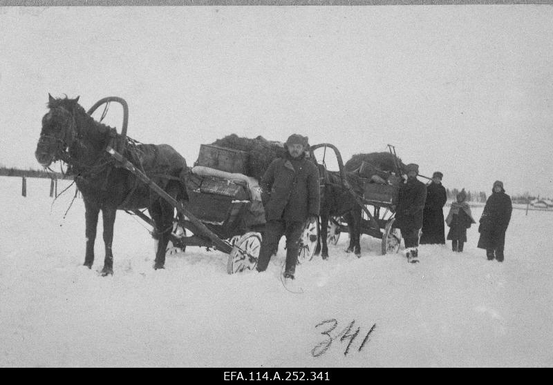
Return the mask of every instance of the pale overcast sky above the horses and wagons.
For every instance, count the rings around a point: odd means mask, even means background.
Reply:
[[[48,92],[123,97],[129,136],[189,165],[231,133],[298,132],[553,197],[551,6],[0,8],[0,164],[39,168]]]

